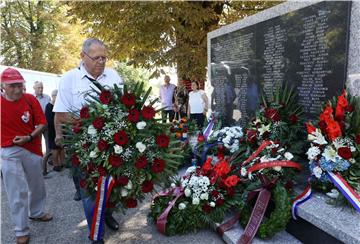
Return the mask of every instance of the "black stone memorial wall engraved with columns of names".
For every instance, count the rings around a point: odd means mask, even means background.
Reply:
[[[347,80],[352,5],[288,2],[209,33],[212,111],[226,124],[244,124],[262,93],[270,98],[288,82],[313,118]]]

